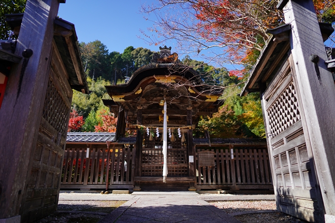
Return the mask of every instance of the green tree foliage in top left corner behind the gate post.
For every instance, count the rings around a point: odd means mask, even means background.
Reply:
[[[5,22],[5,14],[23,13],[27,0],[1,0],[0,1],[0,39],[16,38]]]

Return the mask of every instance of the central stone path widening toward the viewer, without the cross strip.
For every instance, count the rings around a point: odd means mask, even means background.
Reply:
[[[133,202],[133,203],[132,203]],[[116,212],[117,211],[117,212]],[[99,223],[241,223],[224,211],[189,195],[135,195]]]

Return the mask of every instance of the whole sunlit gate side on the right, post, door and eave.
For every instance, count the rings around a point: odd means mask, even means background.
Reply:
[[[261,94],[277,209],[334,223],[335,50],[327,55],[324,46],[334,29],[318,23],[312,0],[281,0],[278,8],[286,24],[267,31],[242,95]]]

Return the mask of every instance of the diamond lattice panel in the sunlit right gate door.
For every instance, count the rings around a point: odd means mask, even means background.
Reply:
[[[273,137],[301,119],[293,82],[274,101],[267,112]]]

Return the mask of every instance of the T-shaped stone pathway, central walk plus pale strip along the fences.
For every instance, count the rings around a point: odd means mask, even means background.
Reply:
[[[99,223],[241,223],[205,200],[273,200],[274,195],[145,192],[60,193],[60,200],[128,200]]]

